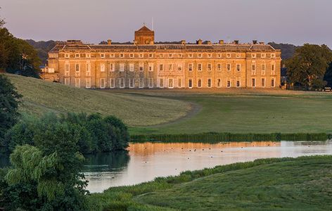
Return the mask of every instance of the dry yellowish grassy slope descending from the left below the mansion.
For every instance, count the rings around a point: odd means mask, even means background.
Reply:
[[[115,115],[130,126],[160,124],[186,115],[190,105],[184,101],[131,94],[77,89],[40,79],[8,75],[23,94],[23,113],[84,112]]]

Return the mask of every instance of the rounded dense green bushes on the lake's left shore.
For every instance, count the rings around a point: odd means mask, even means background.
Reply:
[[[63,137],[63,134],[56,136],[54,130],[58,125],[68,127],[68,138],[77,140],[75,144],[81,153],[123,150],[128,145],[127,126],[116,117],[84,113],[57,116],[47,113],[40,119],[25,117],[15,124],[6,134],[4,146],[8,151],[13,151],[15,146],[30,144],[46,152],[53,151],[49,142],[56,142]]]

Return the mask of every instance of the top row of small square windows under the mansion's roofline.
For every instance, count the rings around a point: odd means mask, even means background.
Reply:
[[[235,54],[235,55],[234,55]],[[241,54],[240,53],[234,53],[232,55],[232,53],[224,53],[224,55],[222,53],[207,53],[204,54],[203,53],[110,53],[107,54],[106,53],[99,53],[98,56],[100,58],[241,58]],[[157,56],[156,56],[157,55]],[[91,58],[91,53],[75,53],[75,58],[81,58],[81,56],[83,56],[83,58]],[[251,53],[250,54],[251,58],[276,58],[276,53]],[[65,58],[70,58],[70,53],[65,53]]]

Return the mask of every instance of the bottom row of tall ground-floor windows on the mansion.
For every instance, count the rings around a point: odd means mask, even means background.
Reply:
[[[226,79],[226,87],[233,87],[234,85],[231,84],[231,79],[227,78]],[[67,77],[65,78],[65,84],[66,85],[70,85],[70,78]],[[251,87],[256,87],[256,78],[252,78],[251,79]],[[129,88],[135,88],[135,82],[134,79],[129,79],[128,80],[128,86]],[[275,78],[271,79],[271,87],[275,87]],[[80,78],[75,78],[75,87],[81,87],[81,79]],[[85,87],[86,88],[91,88],[91,78],[87,78],[85,79]],[[120,88],[125,88],[126,87],[126,83],[125,83],[125,78],[120,78],[119,79],[119,87]],[[140,78],[139,79],[139,88],[143,88],[144,87],[144,79]],[[159,79],[159,84],[158,84],[159,88],[174,88],[174,79],[169,78],[168,80],[164,80],[163,78]],[[182,88],[182,79],[178,79],[177,80],[177,87],[178,88]],[[188,87],[189,88],[193,88],[193,79],[189,79],[188,80]],[[202,79],[197,79],[197,84],[196,87],[198,88],[202,88],[203,87],[203,80]],[[212,88],[212,79],[208,79],[206,87],[208,88]],[[217,79],[217,88],[222,87],[222,79]],[[241,78],[236,78],[235,81],[235,87],[241,87]],[[261,78],[261,83],[260,83],[260,87],[266,87],[266,79],[264,77]],[[106,88],[106,79],[105,78],[101,78],[100,79],[100,88],[104,89]],[[110,78],[110,88],[115,88],[115,79],[114,78]],[[148,88],[153,88],[153,78],[148,78]]]

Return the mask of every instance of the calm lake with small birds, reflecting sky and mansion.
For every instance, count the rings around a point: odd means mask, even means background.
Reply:
[[[259,141],[231,143],[130,143],[127,152],[87,155],[88,190],[151,181],[186,170],[245,162],[257,158],[332,155],[332,141]]]

